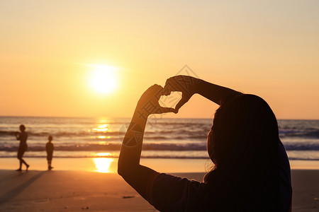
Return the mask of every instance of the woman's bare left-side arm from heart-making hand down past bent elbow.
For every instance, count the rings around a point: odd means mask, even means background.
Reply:
[[[159,105],[158,100],[162,95],[162,90],[162,86],[154,85],[142,94],[124,136],[118,158],[118,174],[145,199],[147,199],[147,182],[157,174],[155,170],[140,165],[140,153],[147,117],[150,114],[173,111],[172,108]]]

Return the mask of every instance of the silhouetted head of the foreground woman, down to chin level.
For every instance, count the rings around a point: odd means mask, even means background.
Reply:
[[[256,95],[237,95],[216,110],[208,154],[216,167],[273,164],[279,142],[276,117]]]

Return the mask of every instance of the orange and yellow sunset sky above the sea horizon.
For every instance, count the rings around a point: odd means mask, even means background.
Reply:
[[[0,1],[1,116],[130,117],[185,65],[279,119],[319,119],[319,1]],[[164,117],[215,110],[195,95]]]

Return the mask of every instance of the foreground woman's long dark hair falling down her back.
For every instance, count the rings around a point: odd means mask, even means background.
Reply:
[[[239,211],[254,211],[264,204],[265,211],[275,208],[279,132],[267,102],[242,94],[221,104],[207,148],[215,167],[205,181],[218,193],[212,194],[217,202],[223,205],[225,199],[236,198],[235,203],[225,202],[225,206]],[[237,208],[243,201],[247,206]],[[267,201],[271,203],[266,205]]]

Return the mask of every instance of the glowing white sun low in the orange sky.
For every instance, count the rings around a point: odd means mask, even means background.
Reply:
[[[113,66],[91,65],[90,85],[97,93],[111,93],[117,86],[116,68]]]

